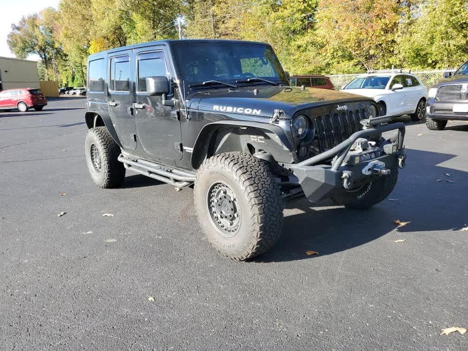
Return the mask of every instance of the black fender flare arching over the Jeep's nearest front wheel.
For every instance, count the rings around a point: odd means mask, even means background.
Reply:
[[[212,135],[215,133],[215,131],[217,131],[223,126],[239,128],[250,127],[262,129],[264,131],[267,131],[269,134],[274,134],[277,137],[275,142],[280,144],[283,150],[295,150],[292,141],[288,139],[284,129],[278,125],[253,121],[219,120],[204,125],[203,128],[200,130],[200,133],[198,133],[197,139],[195,140],[195,145],[193,147],[191,158],[191,164],[194,169],[197,169],[205,159]]]

